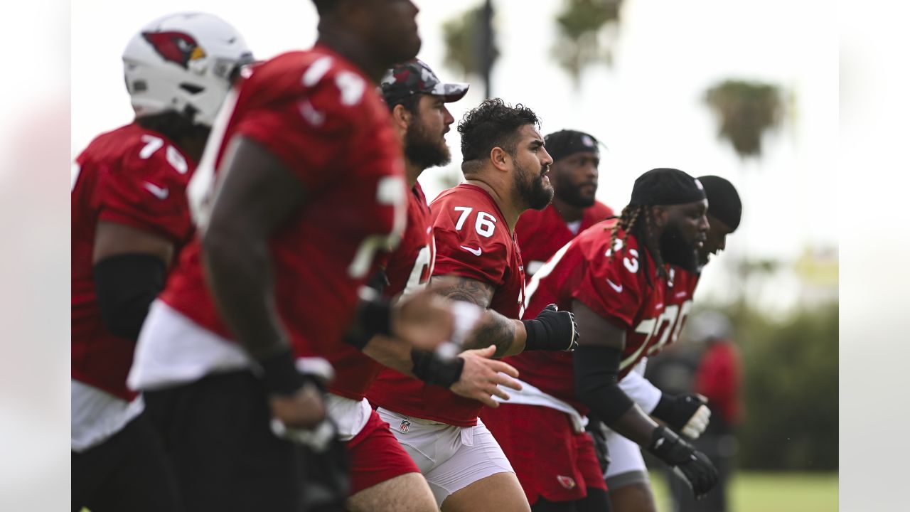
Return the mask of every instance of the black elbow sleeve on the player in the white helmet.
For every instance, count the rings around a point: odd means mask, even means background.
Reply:
[[[165,287],[165,262],[151,254],[117,254],[95,263],[92,273],[106,329],[136,341],[149,304]]]

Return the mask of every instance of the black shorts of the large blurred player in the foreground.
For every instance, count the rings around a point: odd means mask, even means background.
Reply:
[[[145,400],[187,512],[303,508],[305,454],[272,433],[267,397],[253,374],[210,375],[147,392]]]

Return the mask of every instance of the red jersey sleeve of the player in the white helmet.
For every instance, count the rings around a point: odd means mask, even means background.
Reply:
[[[186,241],[192,230],[186,189],[196,164],[166,138],[144,134],[137,140],[119,162],[98,164],[98,220]]]

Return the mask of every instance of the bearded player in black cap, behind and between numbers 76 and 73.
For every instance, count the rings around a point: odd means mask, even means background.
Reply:
[[[547,173],[553,186],[553,202],[543,210],[524,212],[515,224],[528,279],[575,235],[613,216],[609,206],[595,199],[600,142],[573,129],[553,132],[543,140],[553,159]]]

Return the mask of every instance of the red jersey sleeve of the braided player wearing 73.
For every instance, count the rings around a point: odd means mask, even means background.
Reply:
[[[587,270],[572,297],[583,302],[604,318],[612,318],[632,328],[642,308],[646,285],[642,282],[641,254],[636,244],[623,247],[612,259],[591,254]]]

